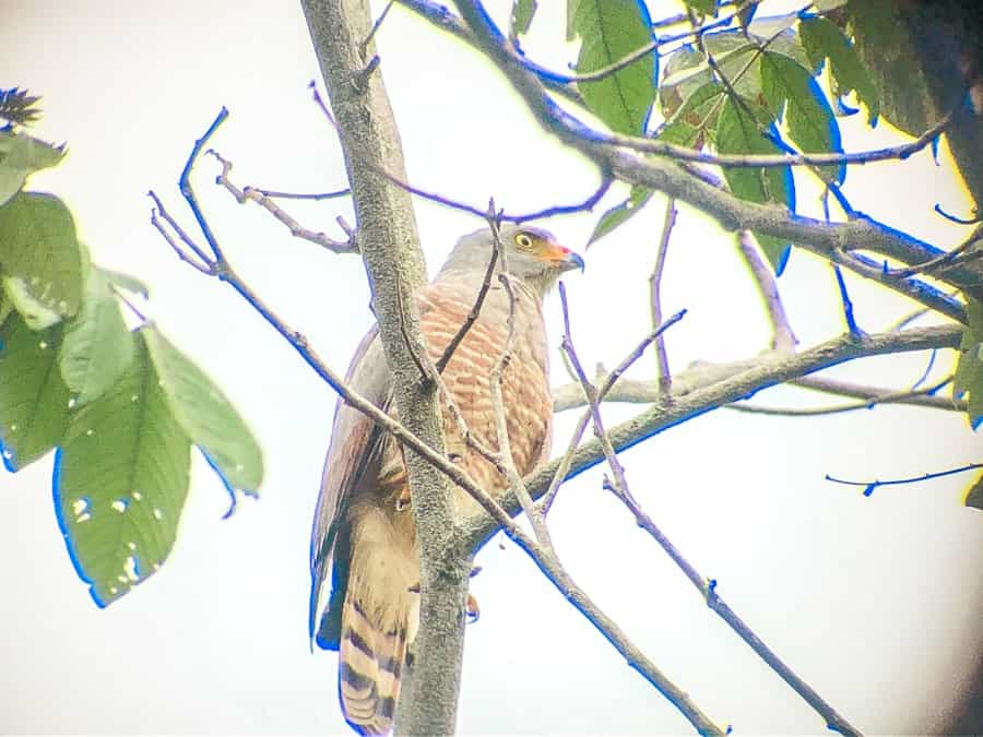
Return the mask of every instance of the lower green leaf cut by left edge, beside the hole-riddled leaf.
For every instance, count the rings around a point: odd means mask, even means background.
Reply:
[[[55,448],[69,417],[58,372],[61,328],[35,332],[17,314],[0,326],[0,443],[3,465],[19,471]]]

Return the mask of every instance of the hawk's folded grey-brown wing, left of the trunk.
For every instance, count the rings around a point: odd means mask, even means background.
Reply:
[[[374,325],[362,338],[345,383],[377,407],[389,409],[392,384],[378,326]],[[339,397],[310,536],[308,628],[311,640],[317,635],[322,647],[337,646],[340,621],[335,620],[341,616],[347,579],[346,508],[359,482],[367,473],[374,473],[372,466],[379,463],[384,441],[384,432],[371,419]],[[339,549],[339,546],[345,549]],[[333,566],[334,562],[341,566]],[[329,601],[325,584],[332,568],[337,570],[334,571]]]

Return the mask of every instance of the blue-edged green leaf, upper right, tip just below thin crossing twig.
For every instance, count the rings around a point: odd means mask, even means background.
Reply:
[[[761,91],[772,114],[785,108],[789,135],[806,153],[843,153],[840,128],[826,95],[809,74],[786,56],[766,51],[761,59]],[[845,165],[819,168],[828,182],[840,183],[846,174]]]

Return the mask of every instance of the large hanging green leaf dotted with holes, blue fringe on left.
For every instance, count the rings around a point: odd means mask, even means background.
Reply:
[[[55,466],[59,526],[98,606],[156,572],[188,496],[191,444],[134,343],[120,380],[72,417]]]

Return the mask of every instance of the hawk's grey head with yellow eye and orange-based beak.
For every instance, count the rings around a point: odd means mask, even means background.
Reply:
[[[560,274],[572,269],[583,271],[583,259],[566,246],[561,246],[548,230],[528,225],[502,225],[499,238],[505,249],[509,274],[524,282],[543,297],[557,282]],[[484,276],[495,249],[490,228],[482,228],[462,237],[454,246],[441,274],[464,272]],[[500,260],[496,272],[501,271]]]

